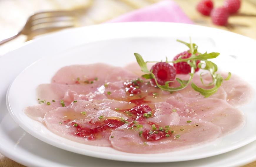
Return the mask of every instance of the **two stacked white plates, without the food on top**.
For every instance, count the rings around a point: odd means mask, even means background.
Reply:
[[[256,74],[248,67],[255,66],[256,41],[241,35],[197,25],[146,22],[61,31],[0,57],[0,152],[26,166],[156,166],[164,162],[162,166],[210,167],[255,161],[255,98],[240,107],[246,116],[242,129],[202,146],[163,154],[130,154],[72,142],[22,112],[36,104],[36,86],[49,83],[60,67],[95,62],[123,66],[134,61],[134,52],[149,59],[173,57],[186,50],[175,40],[189,36],[200,52],[221,53],[216,62],[222,71],[239,75],[255,88]]]

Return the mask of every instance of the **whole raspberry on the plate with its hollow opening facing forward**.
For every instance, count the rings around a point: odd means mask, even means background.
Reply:
[[[173,66],[166,62],[159,62],[154,64],[150,71],[155,75],[159,85],[164,85],[166,81],[173,81],[176,76],[176,71]],[[153,84],[156,84],[154,79],[151,79]],[[169,83],[170,85],[171,83]]]

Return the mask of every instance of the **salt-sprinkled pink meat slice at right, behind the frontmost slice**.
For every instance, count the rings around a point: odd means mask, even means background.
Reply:
[[[244,113],[225,100],[188,98],[178,94],[168,98],[166,102],[170,107],[175,107],[180,116],[185,116],[188,120],[205,120],[220,126],[222,135],[233,132],[245,124]]]

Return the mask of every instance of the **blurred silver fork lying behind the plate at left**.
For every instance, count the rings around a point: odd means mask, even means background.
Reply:
[[[0,41],[0,45],[19,35],[27,35],[30,40],[35,35],[48,33],[78,25],[76,11],[45,11],[30,16],[24,27],[14,36]]]

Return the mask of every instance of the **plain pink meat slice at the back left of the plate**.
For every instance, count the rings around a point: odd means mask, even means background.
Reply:
[[[121,81],[136,79],[138,76],[121,67],[114,67],[104,63],[88,65],[71,65],[66,66],[53,76],[52,83],[76,84],[79,82],[94,81],[96,85],[103,85],[109,81]],[[95,80],[97,78],[97,81]]]

